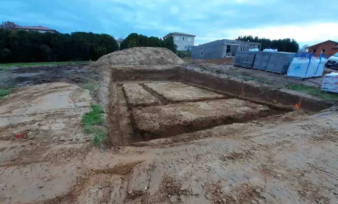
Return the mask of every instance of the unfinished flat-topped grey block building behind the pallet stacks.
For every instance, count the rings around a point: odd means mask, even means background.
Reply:
[[[235,57],[237,51],[260,50],[262,43],[240,40],[215,40],[192,48],[193,59],[220,59]]]

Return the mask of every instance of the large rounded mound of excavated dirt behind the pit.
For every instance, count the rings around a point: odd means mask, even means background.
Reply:
[[[94,66],[170,65],[184,61],[164,47],[133,47],[100,57]]]

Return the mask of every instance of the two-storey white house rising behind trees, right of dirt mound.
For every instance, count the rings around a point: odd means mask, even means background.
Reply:
[[[168,33],[163,39],[173,36],[174,43],[177,46],[177,50],[191,50],[194,46],[196,35],[190,35],[186,33]]]

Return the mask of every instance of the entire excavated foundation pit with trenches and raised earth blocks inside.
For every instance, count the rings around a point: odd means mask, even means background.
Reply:
[[[184,67],[111,71],[110,145],[127,145],[330,104]]]

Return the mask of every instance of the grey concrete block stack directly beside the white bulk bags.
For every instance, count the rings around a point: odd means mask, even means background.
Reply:
[[[286,74],[295,53],[271,52],[270,54],[271,56],[266,71]]]

